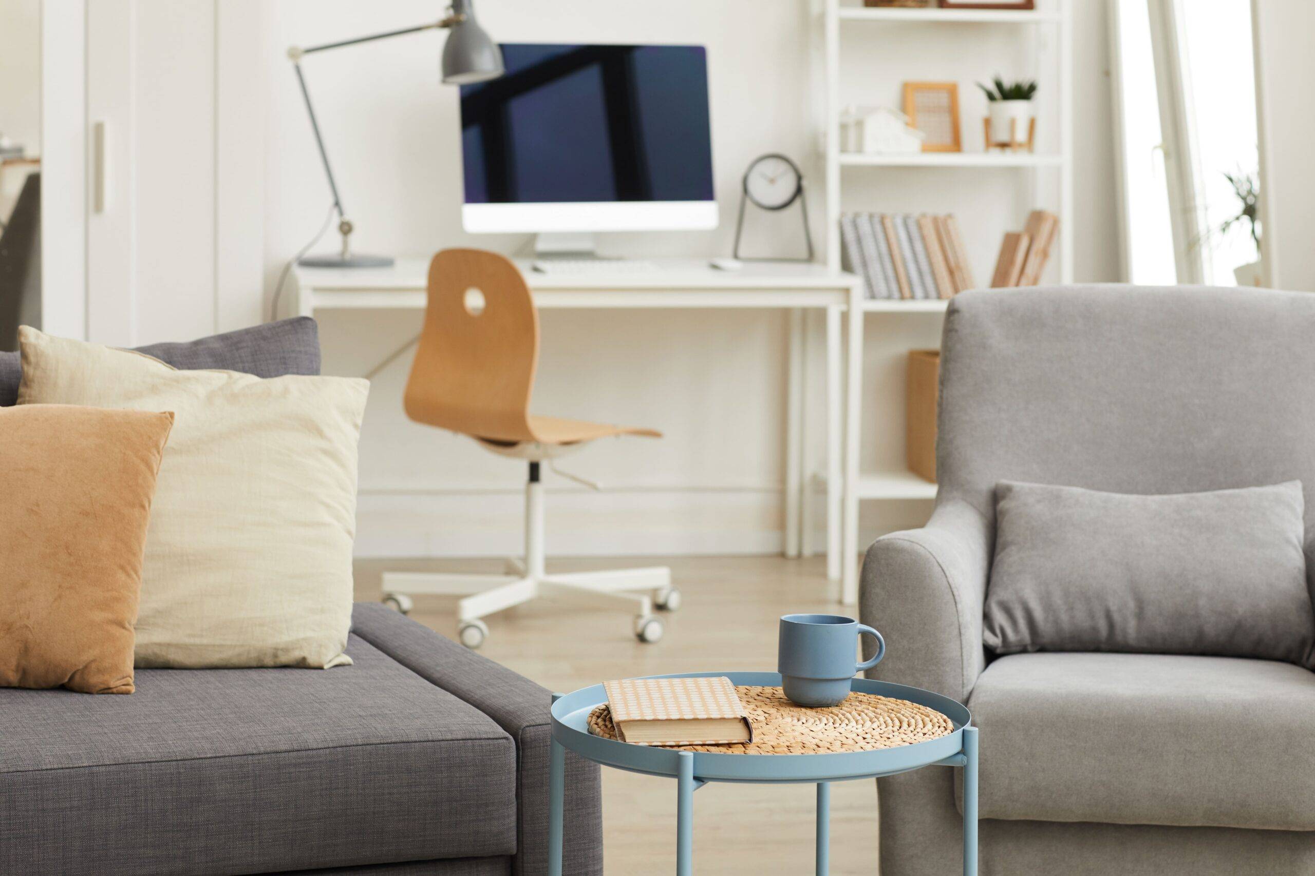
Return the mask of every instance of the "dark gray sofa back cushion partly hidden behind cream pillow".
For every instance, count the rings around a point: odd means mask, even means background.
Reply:
[[[221,368],[256,377],[320,373],[320,330],[310,317],[295,317],[184,343],[147,344],[138,352],[174,368]],[[22,361],[0,353],[0,407],[18,401]]]

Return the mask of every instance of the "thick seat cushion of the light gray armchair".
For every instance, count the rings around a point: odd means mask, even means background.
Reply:
[[[984,818],[1315,830],[1315,674],[1299,666],[1013,654],[968,708]]]

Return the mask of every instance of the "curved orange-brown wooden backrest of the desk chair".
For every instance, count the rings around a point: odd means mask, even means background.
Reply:
[[[435,255],[406,415],[475,437],[534,440],[527,411],[538,361],[539,317],[517,267],[481,250]]]

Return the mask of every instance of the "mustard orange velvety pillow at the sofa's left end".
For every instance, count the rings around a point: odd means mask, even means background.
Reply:
[[[172,414],[0,408],[0,687],[133,692],[133,624]]]

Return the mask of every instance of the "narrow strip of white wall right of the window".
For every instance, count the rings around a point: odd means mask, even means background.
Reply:
[[[1315,3],[1253,0],[1268,281],[1315,292]]]

